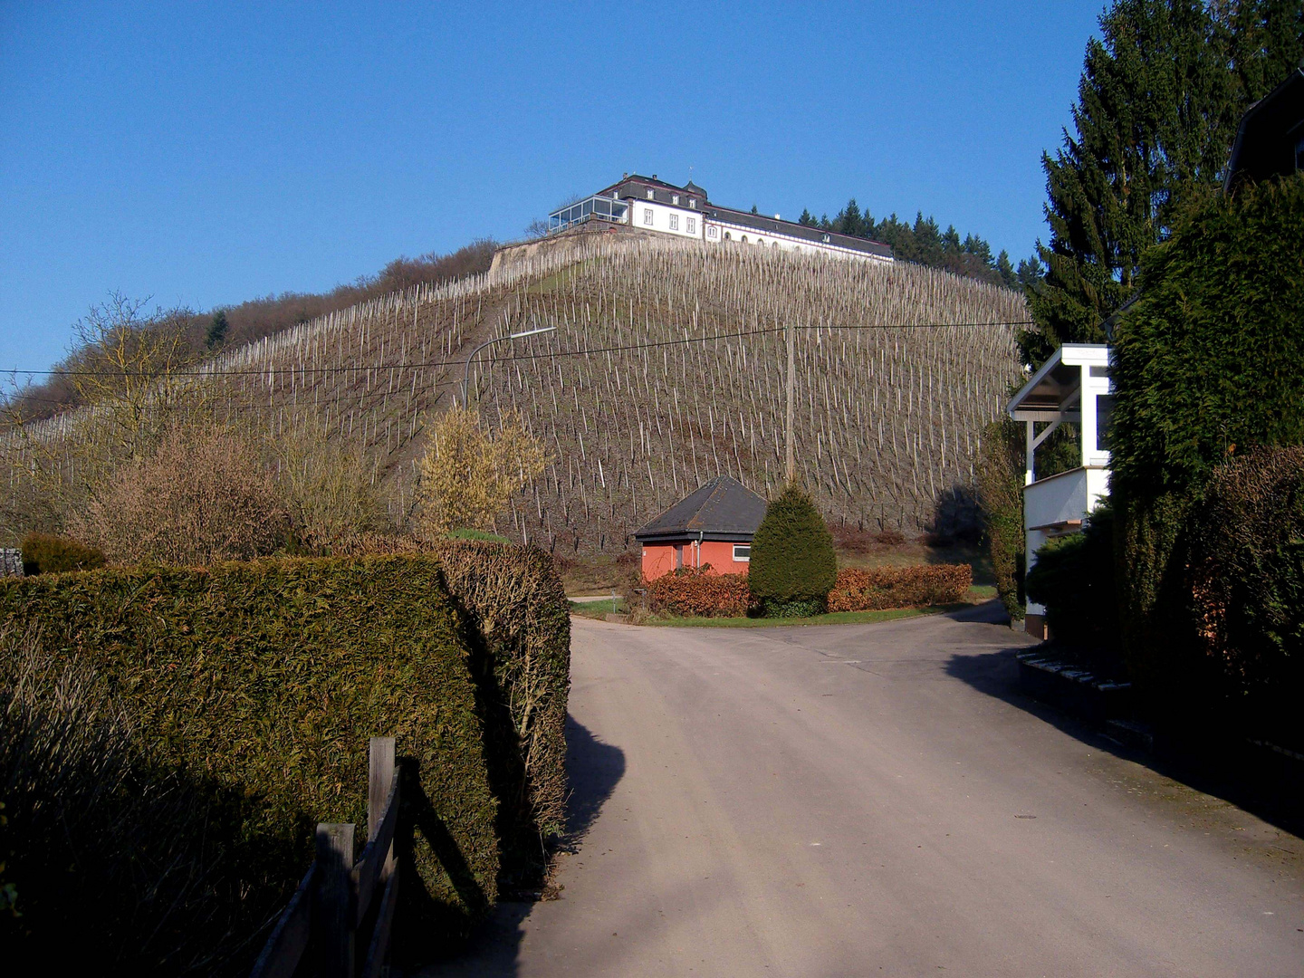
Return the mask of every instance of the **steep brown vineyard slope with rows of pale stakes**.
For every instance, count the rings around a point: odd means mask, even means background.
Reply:
[[[621,552],[717,473],[762,493],[781,484],[790,327],[797,463],[825,516],[945,533],[973,524],[979,432],[1020,377],[1025,319],[1015,292],[914,265],[588,236],[235,351],[167,409],[278,437],[317,425],[366,460],[403,523],[425,428],[460,396],[471,349],[552,326],[490,347],[469,370],[482,417],[518,408],[552,456],[499,531],[559,553]],[[81,412],[35,436],[57,451],[99,432]]]

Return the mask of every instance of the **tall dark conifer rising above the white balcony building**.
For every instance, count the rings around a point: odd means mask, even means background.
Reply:
[[[1029,289],[1038,365],[1060,343],[1103,342],[1145,250],[1181,201],[1222,175],[1243,111],[1300,55],[1299,0],[1118,0],[1086,48],[1073,133],[1045,154],[1050,244]],[[1275,74],[1274,74],[1275,73]]]

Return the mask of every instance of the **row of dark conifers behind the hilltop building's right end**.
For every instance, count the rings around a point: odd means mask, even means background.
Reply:
[[[892,252],[900,261],[944,269],[994,286],[1020,288],[1041,274],[1035,258],[1020,261],[1018,267],[1015,267],[1008,252],[1001,250],[992,257],[991,245],[978,235],[965,235],[961,239],[955,224],[948,224],[943,231],[934,218],[925,218],[922,211],[915,214],[914,224],[901,220],[896,214],[875,222],[871,214],[861,213],[854,197],[832,220],[828,214],[816,218],[808,210],[803,210],[797,223],[840,235],[883,241],[892,245]]]

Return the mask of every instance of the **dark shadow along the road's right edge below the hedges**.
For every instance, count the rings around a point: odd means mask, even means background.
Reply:
[[[982,618],[966,618],[982,621]],[[996,652],[953,655],[945,672],[1093,748],[1133,762],[1187,788],[1221,798],[1295,836],[1304,836],[1304,764],[1234,739],[1157,737],[1153,751],[1128,747],[1101,726],[1022,691],[1015,655],[1026,645]]]

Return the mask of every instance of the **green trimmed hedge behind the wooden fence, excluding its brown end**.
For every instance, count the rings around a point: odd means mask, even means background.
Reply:
[[[400,953],[430,956],[493,904],[497,805],[472,634],[438,559],[39,576],[0,585],[0,622],[38,626],[47,648],[91,666],[129,719],[140,768],[153,768],[158,785],[180,780],[209,807],[194,865],[213,868],[192,880],[209,895],[206,917],[134,919],[132,893],[81,888],[76,871],[57,872],[69,865],[59,853],[7,853],[23,917],[4,926],[37,935],[47,955],[113,945],[87,928],[159,925],[164,940],[123,951],[136,956],[133,969],[246,969],[312,859],[313,825],[352,822],[365,835],[376,734],[398,738],[404,777]],[[13,803],[7,815],[26,816]],[[116,858],[147,876],[150,857]],[[61,938],[69,919],[78,941]]]

